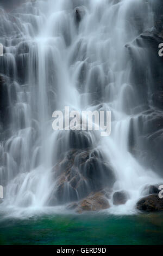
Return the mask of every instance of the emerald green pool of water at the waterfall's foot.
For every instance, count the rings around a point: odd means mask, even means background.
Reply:
[[[0,216],[1,217],[1,216]],[[1,245],[162,245],[163,218],[55,215],[2,219]]]

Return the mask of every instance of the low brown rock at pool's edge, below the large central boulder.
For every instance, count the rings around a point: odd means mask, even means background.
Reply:
[[[105,197],[104,193],[97,192],[95,194],[90,194],[82,201],[79,201],[79,203],[72,203],[68,206],[68,209],[75,209],[78,213],[82,213],[83,211],[105,210],[109,207],[108,199]]]

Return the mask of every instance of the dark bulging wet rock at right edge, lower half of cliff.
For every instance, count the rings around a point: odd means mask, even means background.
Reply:
[[[163,118],[160,110],[146,110],[137,119],[131,120],[129,130],[130,152],[139,159],[145,168],[152,169],[162,176],[163,164]],[[137,133],[139,134],[137,141]],[[159,152],[159,153],[158,153]]]

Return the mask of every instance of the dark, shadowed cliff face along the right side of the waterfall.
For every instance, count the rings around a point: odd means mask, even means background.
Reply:
[[[130,123],[130,151],[141,163],[163,175],[163,57],[159,56],[159,44],[163,43],[163,3],[153,4],[154,27],[143,31],[132,45],[127,45],[132,58],[133,84],[140,97],[139,139],[134,135],[135,122]],[[134,45],[147,52],[147,58],[137,61]],[[150,108],[149,108],[150,106]],[[141,114],[140,114],[141,112]]]

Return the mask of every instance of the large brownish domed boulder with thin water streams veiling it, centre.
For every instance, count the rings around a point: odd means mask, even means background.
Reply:
[[[92,192],[111,188],[115,182],[109,163],[100,152],[91,149],[68,151],[54,167],[53,174],[57,180],[54,195],[58,203],[81,200]]]

